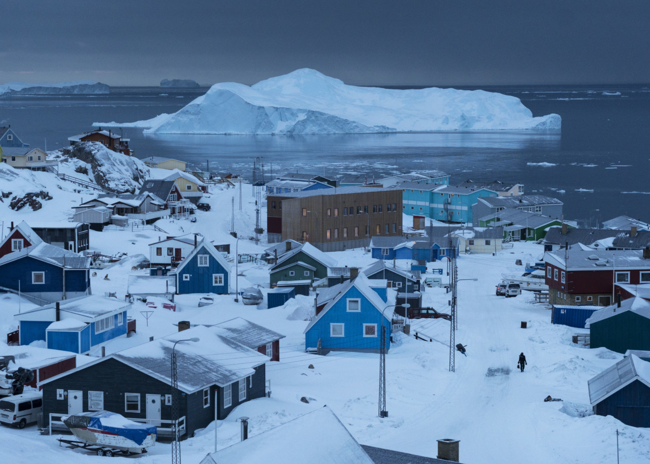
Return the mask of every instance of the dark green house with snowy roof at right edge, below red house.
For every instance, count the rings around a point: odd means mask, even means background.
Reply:
[[[650,350],[650,303],[638,296],[614,303],[593,313],[586,327],[591,348]]]

